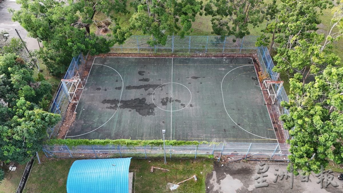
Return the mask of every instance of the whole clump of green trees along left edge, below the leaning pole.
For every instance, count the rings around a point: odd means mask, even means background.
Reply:
[[[6,163],[28,161],[42,149],[46,129],[60,120],[41,109],[40,102],[51,98],[51,84],[44,77],[33,78],[22,44],[0,39],[0,161]]]

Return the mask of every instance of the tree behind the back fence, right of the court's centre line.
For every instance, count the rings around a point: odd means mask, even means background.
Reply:
[[[264,21],[265,5],[263,0],[210,0],[204,10],[213,17],[214,34],[243,38],[250,34],[249,24],[255,27]]]

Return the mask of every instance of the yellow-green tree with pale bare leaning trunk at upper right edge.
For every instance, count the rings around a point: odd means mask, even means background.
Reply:
[[[324,5],[323,5],[324,6]],[[334,16],[331,20],[331,27],[326,36],[316,31],[310,32],[310,28],[304,33],[300,27],[296,35],[290,35],[289,40],[284,39],[281,47],[277,49],[274,61],[277,65],[273,68],[276,72],[293,74],[299,72],[302,75],[303,84],[310,75],[320,73],[327,66],[340,64],[340,58],[332,53],[332,43],[338,41],[343,35],[343,1],[333,10]],[[314,27],[315,24],[312,24]],[[310,26],[312,26],[310,25]],[[312,26],[312,27],[313,27]],[[312,28],[315,30],[316,28]],[[333,32],[335,31],[335,32]]]

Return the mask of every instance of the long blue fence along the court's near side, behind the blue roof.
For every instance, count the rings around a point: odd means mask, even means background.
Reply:
[[[53,158],[163,158],[164,152],[169,159],[209,158],[227,155],[230,157],[253,157],[275,159],[286,157],[288,148],[279,144],[266,143],[219,143],[187,146],[121,146],[121,145],[91,145],[91,146],[44,146],[43,152]],[[211,156],[212,155],[212,156]]]

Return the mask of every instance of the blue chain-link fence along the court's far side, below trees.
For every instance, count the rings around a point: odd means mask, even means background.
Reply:
[[[246,36],[240,39],[235,36],[168,36],[165,45],[150,46],[147,41],[151,40],[151,36],[133,35],[124,44],[111,47],[110,53],[256,53],[257,37]]]

